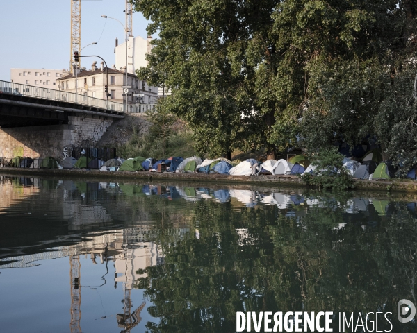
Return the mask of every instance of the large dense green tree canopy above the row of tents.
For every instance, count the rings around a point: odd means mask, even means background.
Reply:
[[[190,123],[200,153],[314,151],[375,135],[395,159],[405,139],[417,142],[413,0],[133,4],[158,33],[138,76],[172,89],[165,108]]]

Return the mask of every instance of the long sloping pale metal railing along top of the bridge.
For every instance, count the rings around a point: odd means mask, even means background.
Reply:
[[[21,96],[36,97],[38,99],[49,99],[51,101],[61,101],[77,103],[81,105],[94,106],[96,108],[124,112],[124,105],[105,99],[65,92],[65,90],[55,90],[44,87],[34,87],[32,85],[21,85],[0,80],[0,94],[13,94]]]

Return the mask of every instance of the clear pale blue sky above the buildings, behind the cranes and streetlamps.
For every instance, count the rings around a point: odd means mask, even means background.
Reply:
[[[10,81],[11,68],[67,69],[70,67],[72,0],[0,0],[0,80]],[[115,63],[115,38],[124,42],[124,0],[81,1],[83,56],[97,55],[108,67]],[[146,38],[148,22],[133,13],[133,35]],[[156,37],[156,36],[154,36]],[[81,58],[81,67],[99,64],[99,58]]]

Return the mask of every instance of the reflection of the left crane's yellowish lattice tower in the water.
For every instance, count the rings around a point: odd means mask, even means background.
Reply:
[[[75,253],[70,255],[70,285],[71,285],[71,333],[81,333],[81,283],[80,257]]]

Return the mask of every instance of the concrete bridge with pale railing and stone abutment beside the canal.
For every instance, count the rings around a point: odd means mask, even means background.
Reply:
[[[116,119],[156,105],[111,100],[0,80],[0,157],[52,156],[94,147]]]

